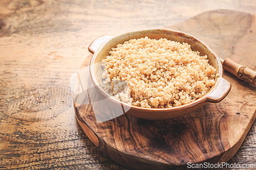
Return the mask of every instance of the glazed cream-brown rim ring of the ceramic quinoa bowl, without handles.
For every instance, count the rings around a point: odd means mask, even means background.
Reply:
[[[127,104],[127,103],[124,103],[122,101],[119,101],[119,100],[115,99],[113,96],[111,96],[108,92],[106,92],[100,86],[100,84],[98,83],[98,81],[96,79],[93,66],[94,66],[94,63],[95,63],[95,60],[96,60],[96,57],[97,57],[98,53],[102,50],[104,45],[107,44],[111,39],[121,38],[121,37],[124,37],[124,36],[129,35],[129,34],[133,34],[134,35],[134,34],[140,34],[141,32],[150,32],[150,31],[156,31],[156,32],[159,31],[159,32],[163,32],[163,33],[164,32],[173,32],[173,33],[178,33],[179,35],[182,35],[181,37],[187,37],[189,39],[195,39],[196,41],[201,43],[205,48],[207,48],[207,50],[215,57],[215,59],[217,60],[217,63],[218,63],[217,67],[219,67],[219,72],[217,72],[216,74],[219,74],[220,76],[217,78],[217,81],[215,82],[214,86],[212,86],[210,88],[210,90],[204,96],[202,96],[201,98],[195,100],[194,102],[191,102],[191,103],[188,103],[188,104],[184,104],[184,105],[181,105],[181,106],[175,106],[175,107],[172,107],[172,108],[143,108],[143,107],[139,107],[139,106],[130,105],[130,104]],[[196,38],[193,35],[190,35],[190,34],[187,34],[187,33],[184,33],[184,32],[180,32],[180,31],[170,30],[170,29],[147,29],[147,30],[133,31],[133,32],[128,32],[128,33],[124,33],[124,34],[119,34],[118,36],[113,36],[110,39],[105,40],[104,42],[102,42],[102,44],[100,45],[98,50],[94,52],[94,54],[92,56],[92,59],[90,61],[90,68],[89,68],[89,70],[90,70],[91,80],[94,83],[94,85],[96,87],[96,90],[98,92],[100,92],[101,94],[103,94],[105,96],[105,98],[108,98],[108,99],[112,100],[112,102],[114,102],[115,104],[119,104],[119,105],[121,104],[122,107],[123,106],[131,107],[133,109],[141,110],[141,111],[144,111],[144,112],[179,111],[179,110],[183,110],[184,108],[189,108],[191,106],[198,105],[199,103],[202,103],[202,102],[204,102],[204,103],[206,103],[206,102],[214,103],[214,102],[210,101],[207,97],[209,96],[209,94],[214,92],[214,90],[217,88],[218,84],[220,83],[221,79],[223,79],[222,78],[223,68],[222,68],[222,63],[220,61],[220,58],[217,56],[217,54],[214,51],[211,50],[211,48],[207,44],[205,44],[203,41],[201,41],[200,39]]]

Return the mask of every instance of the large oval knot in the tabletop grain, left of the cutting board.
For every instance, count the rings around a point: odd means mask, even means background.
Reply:
[[[70,90],[64,88],[40,88],[19,91],[18,98],[7,108],[7,115],[27,121],[48,120],[71,106]]]

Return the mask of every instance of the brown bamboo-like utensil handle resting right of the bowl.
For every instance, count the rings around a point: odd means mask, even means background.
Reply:
[[[229,58],[226,58],[223,61],[222,65],[224,70],[231,72],[234,76],[237,76],[239,79],[245,80],[253,85],[256,85],[256,71],[253,71],[244,65],[238,64]]]

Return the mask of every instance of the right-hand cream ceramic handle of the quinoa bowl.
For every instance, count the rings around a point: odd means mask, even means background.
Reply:
[[[221,102],[227,96],[230,89],[231,84],[223,77],[220,77],[220,82],[217,84],[217,87],[207,95],[207,101],[210,103]]]

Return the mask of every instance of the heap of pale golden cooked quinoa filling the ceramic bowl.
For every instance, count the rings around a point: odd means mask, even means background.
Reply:
[[[205,95],[218,76],[207,56],[199,54],[187,43],[165,38],[125,41],[102,60],[102,87],[114,98],[144,108],[191,103]]]

